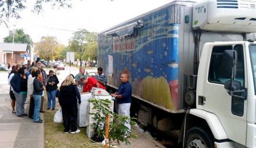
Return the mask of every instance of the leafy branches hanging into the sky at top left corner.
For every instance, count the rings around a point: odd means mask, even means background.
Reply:
[[[8,27],[9,18],[16,18],[16,19],[21,18],[21,16],[19,15],[19,12],[21,12],[23,9],[26,8],[25,2],[26,0],[0,1],[0,25],[4,23]],[[43,3],[50,3],[52,7],[58,7],[58,8],[71,7],[71,0],[37,0],[35,1],[33,11],[35,13],[42,12]]]

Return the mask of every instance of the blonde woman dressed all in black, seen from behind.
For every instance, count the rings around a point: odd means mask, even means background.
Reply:
[[[71,75],[68,75],[60,86],[59,103],[62,106],[64,133],[67,134],[69,131],[71,131],[71,134],[79,133],[80,130],[76,126],[76,120],[81,97]]]

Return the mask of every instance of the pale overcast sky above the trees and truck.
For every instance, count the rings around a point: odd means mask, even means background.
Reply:
[[[22,19],[13,21],[15,28],[23,28],[33,42],[49,35],[57,37],[60,44],[68,45],[73,31],[64,30],[75,31],[80,28],[99,33],[172,0],[73,0],[71,9],[52,9],[47,4],[44,5],[44,12],[39,15],[31,12],[34,1],[27,2],[28,8],[20,13]],[[6,25],[0,25],[0,42],[8,36],[8,30]]]

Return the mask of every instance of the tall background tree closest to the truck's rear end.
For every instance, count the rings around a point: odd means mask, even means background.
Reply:
[[[92,43],[95,43],[96,41],[97,35],[95,33],[90,33],[86,29],[79,29],[79,31],[73,33],[73,37],[71,38],[69,47],[72,51],[75,51],[77,53],[76,56],[79,55],[79,60],[82,61],[82,57],[83,59],[89,57],[89,54],[86,53],[86,47],[88,47],[88,45]]]

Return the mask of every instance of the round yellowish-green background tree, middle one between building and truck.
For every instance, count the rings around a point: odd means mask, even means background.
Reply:
[[[47,60],[47,66],[49,67],[49,61],[53,57],[58,57],[60,51],[64,46],[59,45],[57,38],[54,36],[43,36],[39,43],[35,44],[35,52],[42,57],[42,59]]]

